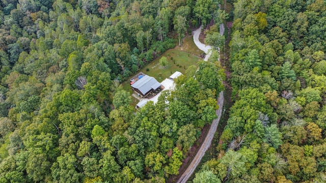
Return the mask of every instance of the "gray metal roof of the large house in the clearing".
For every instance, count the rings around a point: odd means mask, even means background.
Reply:
[[[131,85],[132,88],[139,89],[143,95],[145,95],[151,89],[156,90],[159,86],[161,86],[161,84],[158,83],[154,77],[148,75],[144,75],[144,77]]]

